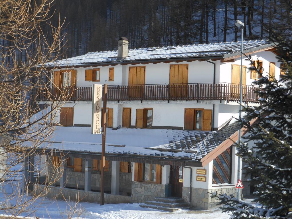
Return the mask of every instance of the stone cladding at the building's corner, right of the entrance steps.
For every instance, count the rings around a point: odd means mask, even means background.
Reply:
[[[235,187],[219,187],[213,189],[199,189],[199,188],[192,188],[192,197],[190,202],[190,187],[183,187],[183,199],[185,202],[190,204],[190,206],[198,209],[198,210],[208,210],[210,208],[214,208],[218,203],[216,198],[211,198],[211,194],[208,192],[217,192],[218,194],[227,195],[233,194],[236,196],[237,192]]]

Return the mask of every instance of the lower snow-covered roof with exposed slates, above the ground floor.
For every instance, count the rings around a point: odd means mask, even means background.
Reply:
[[[232,122],[219,131],[107,128],[106,155],[183,159],[199,162],[238,130]],[[90,127],[56,127],[51,139],[40,147],[79,154],[100,154],[102,135]],[[28,146],[32,146],[29,142]]]

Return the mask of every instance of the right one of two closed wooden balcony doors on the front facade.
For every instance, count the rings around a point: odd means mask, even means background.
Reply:
[[[188,64],[170,65],[169,95],[171,97],[185,97],[187,95]]]

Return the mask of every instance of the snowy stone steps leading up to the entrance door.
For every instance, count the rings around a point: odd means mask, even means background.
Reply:
[[[181,198],[154,198],[154,201],[145,201],[145,203],[140,204],[142,208],[153,208],[162,211],[174,212],[179,209],[187,209],[188,204],[184,202]]]

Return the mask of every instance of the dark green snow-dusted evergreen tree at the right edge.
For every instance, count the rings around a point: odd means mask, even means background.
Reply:
[[[232,212],[231,218],[292,218],[292,42],[279,32],[272,32],[270,40],[276,42],[285,75],[279,81],[268,77],[254,81],[261,105],[244,107],[247,116],[241,120],[250,130],[244,138],[253,145],[238,146],[238,155],[247,164],[243,169],[252,176],[249,180],[258,194],[255,201],[262,207],[213,194],[220,199],[223,212]],[[251,126],[248,121],[255,118],[256,124]]]

